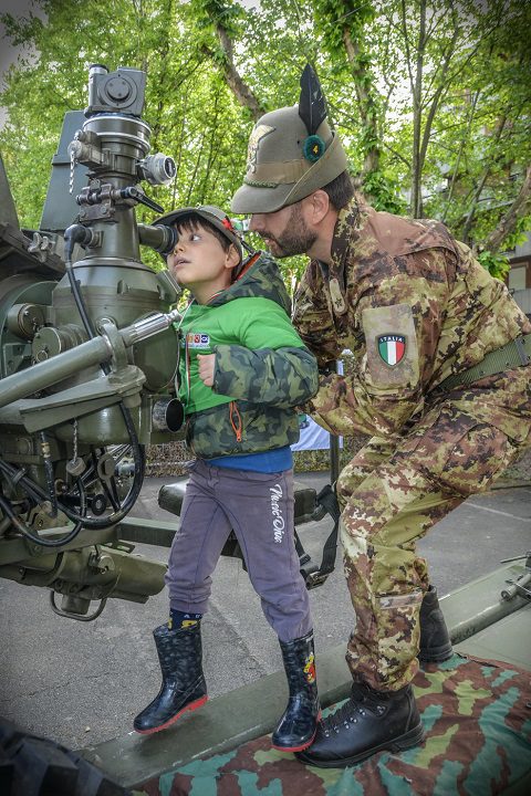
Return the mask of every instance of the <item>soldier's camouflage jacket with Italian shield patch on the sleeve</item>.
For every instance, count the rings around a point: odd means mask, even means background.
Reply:
[[[358,207],[340,212],[332,264],[312,261],[293,322],[320,366],[350,349],[354,376],[323,376],[309,411],[335,433],[399,436],[440,396],[437,386],[531,324],[507,287],[437,221]],[[530,367],[452,391],[459,409],[523,440]]]

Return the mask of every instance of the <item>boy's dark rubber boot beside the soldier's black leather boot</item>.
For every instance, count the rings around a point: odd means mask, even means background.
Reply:
[[[282,752],[300,752],[312,743],[321,718],[313,631],[293,641],[280,641],[280,649],[290,699],[271,736],[271,744]]]

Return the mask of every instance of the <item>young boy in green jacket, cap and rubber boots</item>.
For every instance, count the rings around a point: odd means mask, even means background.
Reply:
[[[289,703],[272,744],[301,751],[315,735],[320,706],[309,598],[293,540],[290,444],[299,438],[294,407],[317,389],[316,363],[290,323],[277,263],[262,252],[242,262],[225,212],[185,208],[157,223],[177,231],[168,269],[192,295],[179,323],[179,398],[197,458],[169,555],[169,622],[154,631],[163,685],[134,726],[158,732],[206,702],[200,621],[232,530],[288,677]]]

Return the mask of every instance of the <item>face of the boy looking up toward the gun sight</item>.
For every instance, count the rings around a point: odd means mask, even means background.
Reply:
[[[230,285],[239,254],[233,245],[225,251],[216,235],[200,224],[183,227],[178,233],[178,241],[167,258],[168,270],[204,304]]]

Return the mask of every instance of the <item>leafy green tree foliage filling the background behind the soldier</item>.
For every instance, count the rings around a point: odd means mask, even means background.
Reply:
[[[413,118],[419,112],[424,214],[444,219],[457,237],[481,249],[531,161],[531,3],[431,0],[420,53],[420,0],[249,6],[35,0],[40,15],[2,14],[7,41],[22,48],[0,95],[8,113],[0,149],[23,226],[39,223],[62,119],[86,104],[91,63],[148,74],[144,118],[152,127],[152,151],[174,157],[177,178],[169,187],[148,186],[147,192],[167,210],[202,202],[228,208],[241,184],[252,116],[227,84],[221,25],[235,67],[264,107],[296,102],[302,67],[306,61],[314,65],[353,172],[379,209],[408,212]],[[415,109],[408,64],[415,69],[417,54],[424,72]],[[371,153],[377,154],[374,167],[366,164]],[[143,208],[138,217],[149,222],[154,213]],[[517,219],[502,248],[522,239],[525,219]],[[502,273],[496,252],[481,256],[489,270]],[[146,259],[158,264],[157,256]],[[303,258],[282,264],[289,284],[296,284],[304,264]]]

